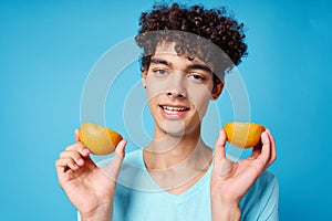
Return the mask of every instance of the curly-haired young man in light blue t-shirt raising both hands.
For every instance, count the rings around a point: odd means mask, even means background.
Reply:
[[[262,145],[237,162],[226,158],[224,130],[215,151],[201,139],[209,101],[219,97],[224,73],[246,54],[242,24],[224,9],[176,3],[154,7],[139,24],[153,140],[125,160],[122,140],[112,160],[97,167],[75,131],[76,143],[55,166],[80,219],[277,220],[278,182],[264,171],[276,159],[269,129]]]

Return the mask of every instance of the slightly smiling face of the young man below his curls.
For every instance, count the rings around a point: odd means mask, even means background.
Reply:
[[[181,136],[200,128],[208,103],[220,95],[222,84],[214,86],[209,67],[198,59],[178,55],[174,45],[156,48],[142,81],[155,133]]]

